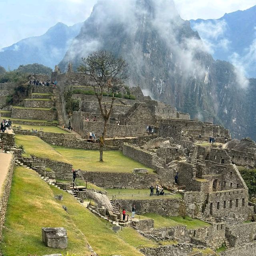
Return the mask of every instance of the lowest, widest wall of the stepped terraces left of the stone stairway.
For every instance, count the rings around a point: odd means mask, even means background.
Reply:
[[[30,108],[12,108],[12,118],[34,120],[57,120],[57,112]]]

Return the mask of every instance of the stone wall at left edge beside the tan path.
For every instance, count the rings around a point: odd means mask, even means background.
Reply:
[[[12,161],[9,164],[8,173],[7,173],[5,182],[3,183],[2,191],[0,191],[1,192],[0,194],[0,240],[2,239],[2,229],[4,226],[8,198],[9,198],[10,190],[12,186],[13,169],[14,169],[14,156],[12,157]]]

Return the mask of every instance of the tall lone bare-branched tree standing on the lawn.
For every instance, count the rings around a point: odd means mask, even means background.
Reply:
[[[112,52],[105,50],[93,52],[87,58],[82,58],[82,64],[78,67],[79,72],[90,76],[95,82],[93,89],[98,99],[100,113],[104,120],[104,130],[102,136],[100,136],[101,162],[103,162],[103,148],[107,124],[115,100],[114,90],[118,90],[118,88],[128,80],[127,67],[128,64],[122,57],[116,57]],[[108,95],[111,94],[112,101],[110,104],[102,102],[104,93],[108,93]]]

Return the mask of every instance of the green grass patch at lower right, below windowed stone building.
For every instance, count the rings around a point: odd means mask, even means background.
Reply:
[[[154,220],[154,228],[165,228],[172,226],[187,226],[187,229],[198,229],[211,226],[210,224],[203,222],[202,220],[192,219],[190,217],[182,218],[181,216],[171,217],[171,216],[161,216],[155,213],[143,214],[148,218]]]

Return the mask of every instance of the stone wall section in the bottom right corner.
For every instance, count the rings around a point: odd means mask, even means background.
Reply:
[[[243,246],[232,248],[224,252],[220,252],[221,256],[255,256],[256,241],[244,244]]]

